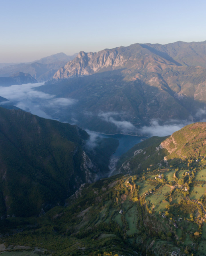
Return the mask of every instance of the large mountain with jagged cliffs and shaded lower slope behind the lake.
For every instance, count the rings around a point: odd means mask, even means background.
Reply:
[[[80,52],[36,90],[77,100],[58,116],[44,111],[97,132],[140,134],[138,129],[154,119],[160,124],[201,121],[206,118],[205,45],[133,44]]]

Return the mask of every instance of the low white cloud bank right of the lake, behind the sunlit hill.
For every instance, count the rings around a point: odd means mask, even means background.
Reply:
[[[176,124],[164,124],[160,125],[157,120],[153,120],[150,126],[143,126],[139,132],[148,136],[159,136],[164,137],[171,135],[173,132],[179,131],[185,125],[189,123],[176,123]]]

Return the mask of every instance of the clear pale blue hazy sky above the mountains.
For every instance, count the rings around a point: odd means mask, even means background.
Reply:
[[[0,62],[134,43],[205,41],[204,0],[7,0],[0,8]]]

